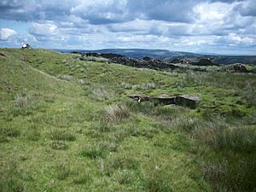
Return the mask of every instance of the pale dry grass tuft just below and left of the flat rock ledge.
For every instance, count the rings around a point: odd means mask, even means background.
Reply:
[[[108,122],[120,122],[129,117],[129,108],[126,105],[110,105],[106,108],[106,119]]]

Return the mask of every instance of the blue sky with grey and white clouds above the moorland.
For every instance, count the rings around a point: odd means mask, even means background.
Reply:
[[[256,55],[256,0],[1,0],[0,47]]]

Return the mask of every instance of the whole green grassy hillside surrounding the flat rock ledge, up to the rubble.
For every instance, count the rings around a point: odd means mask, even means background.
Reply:
[[[255,190],[255,75],[0,53],[0,191]],[[127,98],[183,93],[198,108]]]

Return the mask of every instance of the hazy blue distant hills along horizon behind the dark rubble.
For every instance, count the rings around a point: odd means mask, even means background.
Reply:
[[[180,60],[200,61],[201,59],[210,59],[213,63],[219,65],[229,65],[236,62],[256,65],[256,55],[202,55],[183,51],[170,51],[167,49],[55,49],[62,53],[77,51],[81,53],[113,53],[125,55],[131,58],[143,58],[145,56],[154,59],[163,59],[172,61],[177,58]]]

